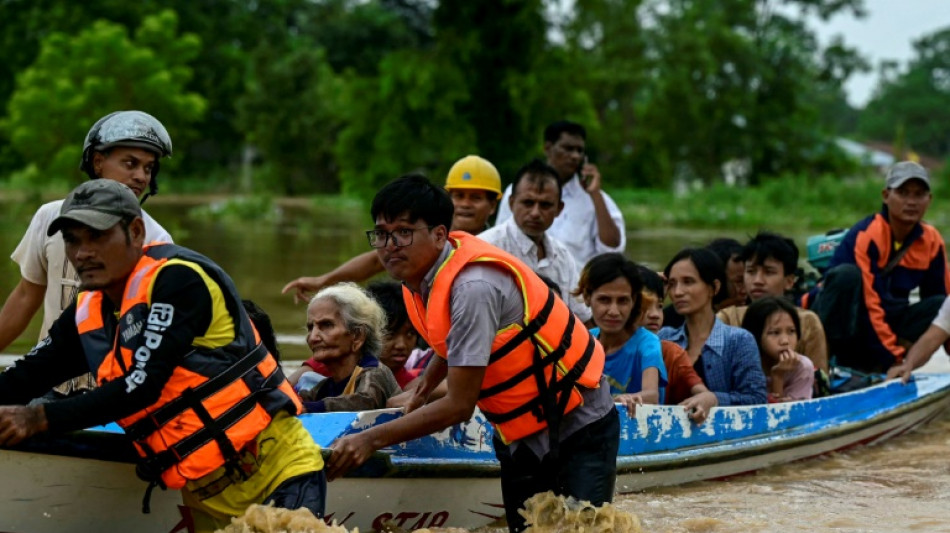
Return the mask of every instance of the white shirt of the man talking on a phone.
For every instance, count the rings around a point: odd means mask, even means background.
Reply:
[[[610,198],[610,195],[604,191],[600,191],[600,194],[604,197],[604,203],[607,205],[607,212],[610,213],[611,220],[614,221],[620,231],[619,246],[607,246],[600,241],[597,215],[594,212],[594,201],[590,199],[590,194],[581,186],[576,175],[562,187],[561,201],[564,202],[564,210],[554,219],[554,224],[547,231],[548,235],[561,241],[570,250],[577,266],[580,268],[583,268],[587,261],[595,255],[608,252],[623,253],[627,245],[626,229],[620,208]],[[511,218],[511,208],[508,206],[509,197],[511,197],[511,185],[505,189],[505,194],[501,198],[495,224],[501,224]]]

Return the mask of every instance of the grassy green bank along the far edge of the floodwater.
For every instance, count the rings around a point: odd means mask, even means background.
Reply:
[[[935,178],[937,179],[937,178]],[[164,183],[162,194],[151,204],[186,206],[191,216],[204,219],[273,221],[287,208],[312,211],[365,212],[369,199],[320,195],[278,197],[270,193],[237,195],[221,188],[203,189],[194,183]],[[68,190],[18,189],[0,186],[0,200],[14,205],[35,206],[40,201],[62,198]],[[207,183],[204,184],[208,186]],[[624,213],[627,228],[704,228],[755,230],[800,228],[822,232],[849,227],[880,207],[883,179],[877,175],[841,179],[787,176],[756,187],[714,185],[674,192],[659,189],[609,187],[607,190]],[[941,232],[950,231],[950,198],[941,197],[935,183],[934,199],[927,220]]]

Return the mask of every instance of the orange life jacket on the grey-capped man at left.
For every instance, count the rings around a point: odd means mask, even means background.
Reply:
[[[204,256],[168,244],[146,248],[126,281],[118,323],[107,316],[102,292],[78,296],[79,337],[99,385],[121,379],[134,388],[144,380],[145,363],[174,314],[171,306],[149,301],[154,277],[170,259],[199,265],[219,285],[235,332],[225,346],[183,354],[159,399],[118,421],[144,458],[140,476],[181,488],[235,459],[279,411],[296,415],[302,408],[227,274]]]

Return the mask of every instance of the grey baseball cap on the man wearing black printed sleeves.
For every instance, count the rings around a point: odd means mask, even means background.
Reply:
[[[100,178],[87,181],[69,193],[46,234],[55,235],[71,222],[104,231],[123,218],[140,216],[142,208],[132,189],[117,181]]]

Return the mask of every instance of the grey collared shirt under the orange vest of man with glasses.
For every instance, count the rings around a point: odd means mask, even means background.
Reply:
[[[423,301],[428,302],[435,275],[451,251],[452,246],[447,244],[423,278],[420,287]],[[470,264],[452,282],[450,299],[452,328],[445,339],[449,367],[488,366],[496,332],[521,323],[524,318],[518,285],[510,274],[499,268]],[[605,378],[601,378],[599,388],[578,388],[583,403],[561,420],[559,438],[562,442],[614,409]],[[518,446],[525,445],[541,458],[550,451],[549,440],[547,430],[540,431],[511,443],[511,450],[514,452]]]

